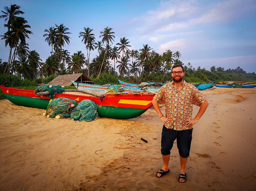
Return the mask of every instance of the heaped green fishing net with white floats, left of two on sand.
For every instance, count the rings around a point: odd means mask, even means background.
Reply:
[[[75,100],[68,98],[53,99],[47,106],[46,115],[49,115],[50,118],[54,118],[56,115],[60,115],[61,118],[68,118],[76,106]]]

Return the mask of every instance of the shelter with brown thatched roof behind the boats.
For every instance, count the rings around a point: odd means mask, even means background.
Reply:
[[[88,78],[84,73],[65,74],[65,75],[57,76],[48,84],[60,85],[60,86],[74,86],[71,80],[75,82],[92,84],[91,79]]]

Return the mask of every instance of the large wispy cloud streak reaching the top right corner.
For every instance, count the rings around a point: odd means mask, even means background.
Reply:
[[[200,4],[198,1],[167,1],[137,19],[143,34],[168,32],[205,24],[229,23],[256,11],[256,1],[228,0]]]

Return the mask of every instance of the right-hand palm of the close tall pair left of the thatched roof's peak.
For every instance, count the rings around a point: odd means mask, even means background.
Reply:
[[[70,43],[70,37],[68,37],[67,35],[71,34],[71,32],[67,32],[69,29],[66,26],[64,26],[63,23],[60,24],[60,26],[57,26],[57,24],[55,24],[55,27],[56,27],[57,46],[60,48],[60,50],[62,50],[62,46],[65,46],[65,43],[67,44]],[[57,51],[57,55],[58,55],[58,51]],[[62,60],[62,51],[59,58],[58,69],[60,68],[61,60]]]

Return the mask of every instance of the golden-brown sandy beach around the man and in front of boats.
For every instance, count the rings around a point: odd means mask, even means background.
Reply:
[[[163,124],[154,108],[129,120],[79,122],[1,100],[0,190],[255,190],[256,88],[202,93],[210,104],[194,125],[186,183],[177,181],[176,144],[171,172],[155,176]]]

